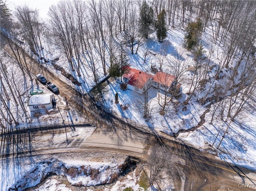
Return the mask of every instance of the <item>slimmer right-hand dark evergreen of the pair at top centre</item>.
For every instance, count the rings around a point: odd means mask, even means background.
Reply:
[[[156,21],[156,35],[158,41],[162,42],[167,37],[167,28],[166,28],[166,12],[162,10],[162,12],[157,16]]]

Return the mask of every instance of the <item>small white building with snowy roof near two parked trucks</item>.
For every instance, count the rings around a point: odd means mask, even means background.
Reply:
[[[54,94],[31,95],[28,101],[30,111],[50,110],[55,104]]]

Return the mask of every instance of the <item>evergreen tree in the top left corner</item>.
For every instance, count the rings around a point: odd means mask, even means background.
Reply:
[[[1,15],[1,28],[4,28],[6,31],[10,31],[12,23],[12,13],[11,10],[6,6],[6,3],[3,0],[0,0],[0,15]]]

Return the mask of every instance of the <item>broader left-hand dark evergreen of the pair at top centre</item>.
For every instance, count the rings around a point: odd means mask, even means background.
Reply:
[[[148,35],[152,33],[152,27],[154,26],[154,11],[146,1],[143,1],[140,7],[140,34],[144,38],[148,38]]]

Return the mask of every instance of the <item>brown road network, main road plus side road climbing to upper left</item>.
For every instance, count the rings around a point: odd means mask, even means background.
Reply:
[[[13,56],[3,39],[2,35],[1,48]],[[150,154],[150,147],[160,143],[162,146],[168,146],[170,152],[177,154],[183,161],[181,166],[185,174],[184,190],[203,188],[210,190],[210,187],[212,190],[217,190],[223,185],[234,190],[250,190],[248,189],[250,186],[241,186],[241,184],[251,185],[252,188],[256,185],[254,171],[218,160],[214,155],[200,152],[184,142],[160,137],[156,132],[153,134],[142,132],[130,126],[128,122],[124,123],[118,118],[109,116],[98,110],[89,96],[79,95],[72,87],[54,77],[53,73],[41,67],[33,59],[30,57],[26,59],[33,65],[31,73],[34,75],[41,73],[57,85],[60,89],[60,96],[66,97],[68,104],[80,110],[94,124],[96,130],[88,138],[70,129],[66,134],[64,128],[55,130],[54,135],[53,130],[2,135],[1,158],[18,157],[24,154],[102,150],[102,152],[116,152],[146,159]],[[52,138],[46,136],[47,134]]]

